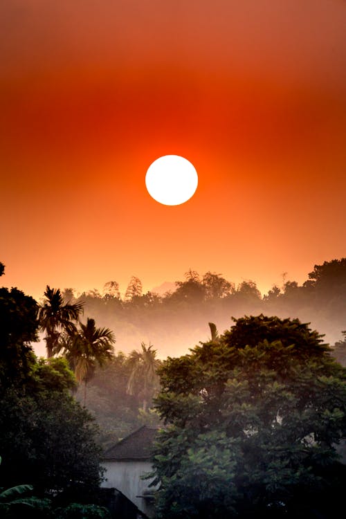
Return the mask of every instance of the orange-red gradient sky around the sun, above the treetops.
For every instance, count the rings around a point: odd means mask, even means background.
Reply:
[[[302,282],[346,255],[343,0],[0,3],[7,286]],[[145,190],[155,158],[199,173]]]

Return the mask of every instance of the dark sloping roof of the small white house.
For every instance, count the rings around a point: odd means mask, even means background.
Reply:
[[[103,458],[118,461],[149,459],[157,431],[158,427],[142,426],[107,449]]]

